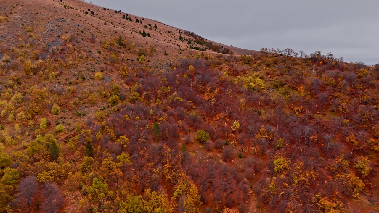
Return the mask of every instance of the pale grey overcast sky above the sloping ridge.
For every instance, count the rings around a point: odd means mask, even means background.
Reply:
[[[379,63],[377,0],[91,1],[243,49],[321,50],[346,62]]]

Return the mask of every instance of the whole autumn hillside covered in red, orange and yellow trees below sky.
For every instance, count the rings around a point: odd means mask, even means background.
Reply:
[[[0,212],[379,210],[379,64],[2,3]]]

